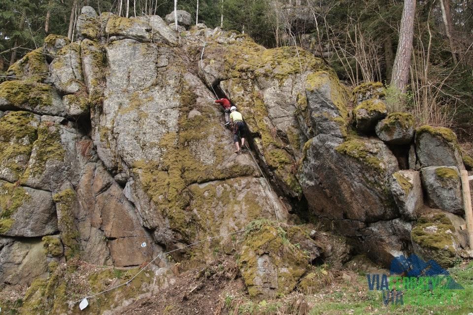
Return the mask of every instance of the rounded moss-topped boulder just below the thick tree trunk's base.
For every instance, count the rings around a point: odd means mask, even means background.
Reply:
[[[376,135],[387,144],[409,144],[414,136],[414,116],[391,113],[377,123]]]

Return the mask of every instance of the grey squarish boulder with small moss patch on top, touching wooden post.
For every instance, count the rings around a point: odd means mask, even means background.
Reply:
[[[458,168],[429,166],[422,168],[421,174],[429,205],[432,208],[459,215],[464,213]]]

